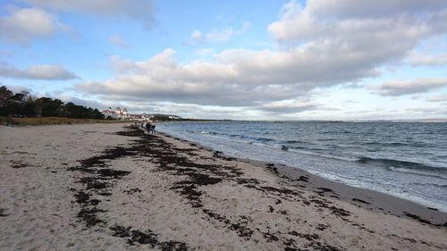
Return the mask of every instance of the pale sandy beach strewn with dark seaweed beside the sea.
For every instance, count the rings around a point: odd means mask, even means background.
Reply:
[[[1,250],[446,250],[447,214],[125,124],[0,127]]]

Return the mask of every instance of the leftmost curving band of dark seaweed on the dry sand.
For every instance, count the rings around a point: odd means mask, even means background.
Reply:
[[[121,131],[118,134],[128,137],[141,136],[137,130]],[[83,184],[82,188],[72,188],[71,190],[75,191],[75,202],[80,205],[78,217],[88,228],[96,226],[105,229],[109,225],[105,219],[101,219],[98,216],[99,213],[106,212],[99,207],[101,201],[91,197],[93,195],[101,195],[103,197],[112,195],[109,188],[114,186],[116,180],[121,180],[124,176],[131,173],[129,171],[111,169],[108,162],[125,156],[139,155],[141,150],[139,147],[141,146],[138,146],[138,144],[130,147],[116,146],[106,149],[101,155],[80,160],[78,168],[69,168],[70,171],[77,171],[83,175],[77,181]],[[197,179],[204,180],[203,177],[198,177]],[[133,188],[126,192],[131,194],[140,191],[139,188]],[[135,243],[151,245],[151,247],[158,247],[164,251],[185,251],[189,249],[188,244],[180,241],[158,241],[157,235],[152,230],[132,230],[131,227],[125,228],[119,225],[114,225],[108,229],[113,231],[113,236],[126,238],[129,245],[134,245]]]

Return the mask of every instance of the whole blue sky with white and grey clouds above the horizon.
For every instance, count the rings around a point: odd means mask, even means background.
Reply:
[[[447,1],[0,0],[0,85],[197,119],[447,119]]]

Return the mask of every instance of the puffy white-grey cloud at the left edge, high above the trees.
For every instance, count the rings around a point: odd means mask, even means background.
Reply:
[[[15,8],[9,16],[0,17],[0,38],[13,43],[29,44],[34,38],[48,38],[68,29],[57,16],[41,9]]]

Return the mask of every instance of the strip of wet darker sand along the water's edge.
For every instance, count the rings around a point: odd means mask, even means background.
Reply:
[[[426,205],[418,204],[417,202],[410,201],[409,199],[392,196],[390,194],[367,188],[352,187],[342,182],[325,179],[299,167],[223,155],[222,152],[217,151],[212,147],[203,146],[199,142],[184,138],[177,138],[165,132],[157,133],[164,135],[164,137],[174,138],[176,140],[180,140],[181,142],[186,142],[190,145],[192,144],[193,146],[202,147],[210,152],[217,153],[224,158],[252,163],[258,167],[266,168],[267,170],[273,172],[282,182],[301,188],[311,189],[316,193],[328,194],[331,197],[342,199],[350,204],[374,211],[375,213],[390,213],[398,217],[406,217],[418,222],[424,222],[447,228],[447,213]]]

